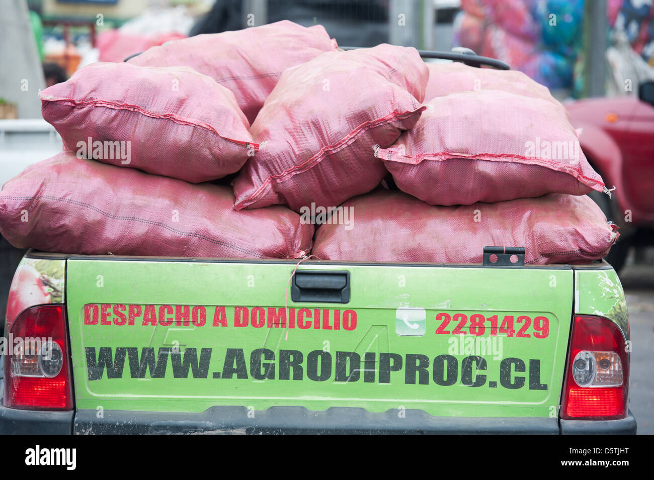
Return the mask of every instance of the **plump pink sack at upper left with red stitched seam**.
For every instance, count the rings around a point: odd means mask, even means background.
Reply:
[[[256,150],[233,93],[189,67],[92,63],[40,97],[64,148],[103,163],[198,183]]]

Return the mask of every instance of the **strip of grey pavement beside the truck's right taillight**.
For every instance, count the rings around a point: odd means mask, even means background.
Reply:
[[[632,340],[630,409],[638,434],[654,434],[654,265],[631,264],[620,272]]]

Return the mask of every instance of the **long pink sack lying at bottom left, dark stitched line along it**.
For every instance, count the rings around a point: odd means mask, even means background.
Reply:
[[[299,258],[313,225],[283,206],[235,212],[232,190],[62,152],[0,191],[0,232],[18,248],[85,255]]]

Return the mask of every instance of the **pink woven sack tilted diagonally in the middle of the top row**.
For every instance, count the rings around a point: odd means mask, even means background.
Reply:
[[[415,125],[428,70],[417,50],[330,52],[284,72],[250,133],[262,144],[234,182],[237,210],[333,207],[385,175],[373,147]]]

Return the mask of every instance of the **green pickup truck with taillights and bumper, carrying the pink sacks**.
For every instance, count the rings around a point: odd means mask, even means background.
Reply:
[[[480,61],[498,66],[465,60]],[[9,291],[0,433],[635,434],[610,264],[483,253],[429,264],[29,250]]]

